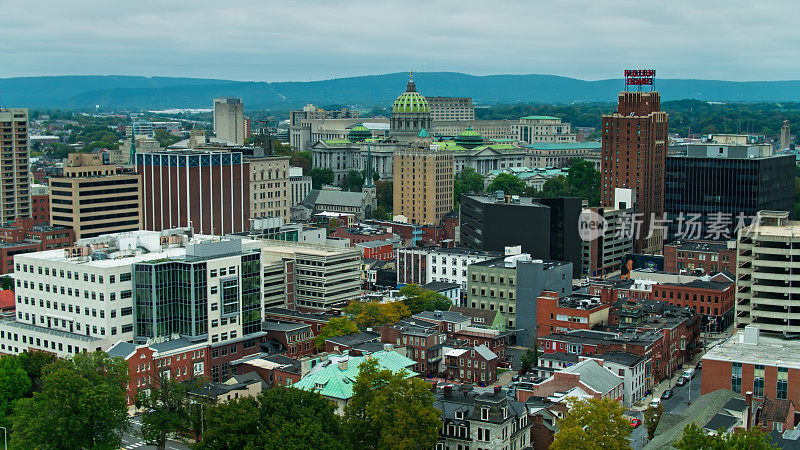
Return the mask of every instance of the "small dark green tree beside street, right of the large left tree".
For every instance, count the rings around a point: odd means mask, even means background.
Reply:
[[[142,416],[142,439],[164,450],[170,433],[184,433],[191,428],[188,391],[196,383],[172,380],[169,369],[155,371],[152,379],[150,389],[139,392],[136,407],[147,410]]]

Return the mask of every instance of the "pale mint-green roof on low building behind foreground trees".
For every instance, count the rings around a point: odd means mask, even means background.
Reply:
[[[312,371],[302,380],[293,384],[292,387],[304,391],[316,392],[326,397],[347,400],[353,396],[353,383],[358,376],[358,365],[364,362],[366,356],[343,355],[347,360],[347,368],[342,369],[337,362],[330,362],[327,366],[317,371]],[[392,372],[406,371],[406,378],[415,377],[418,374],[409,370],[414,366],[414,361],[395,351],[375,352],[369,357],[378,360],[378,367],[381,370],[389,369]],[[336,357],[337,359],[340,357]],[[322,364],[317,361],[317,365]]]

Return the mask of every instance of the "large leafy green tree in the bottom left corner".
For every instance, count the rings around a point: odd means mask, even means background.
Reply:
[[[119,448],[128,429],[128,365],[105,352],[79,353],[44,370],[42,391],[17,401],[15,448]]]

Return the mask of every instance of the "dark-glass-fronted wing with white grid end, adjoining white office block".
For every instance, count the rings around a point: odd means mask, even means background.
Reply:
[[[133,263],[134,341],[179,335],[213,346],[263,335],[261,251],[248,242],[190,242],[180,256]]]

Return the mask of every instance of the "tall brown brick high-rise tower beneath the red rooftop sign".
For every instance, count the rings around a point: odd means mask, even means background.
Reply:
[[[660,224],[652,219],[663,219],[664,214],[667,127],[667,113],[661,111],[655,91],[620,92],[617,112],[603,115],[603,206],[614,206],[614,188],[635,190],[637,253],[660,254],[663,245]]]

